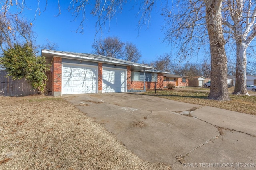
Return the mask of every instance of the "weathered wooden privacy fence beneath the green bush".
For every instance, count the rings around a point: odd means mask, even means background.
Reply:
[[[5,70],[0,70],[0,96],[26,96],[30,94],[38,94],[38,91],[32,89],[25,78],[12,80],[11,76],[7,76]]]

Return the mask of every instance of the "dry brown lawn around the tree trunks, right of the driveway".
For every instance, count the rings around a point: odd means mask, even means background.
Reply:
[[[251,96],[240,96],[232,95],[233,90],[229,89],[231,101],[224,102],[207,99],[210,88],[174,88],[174,90],[157,90],[156,94],[154,90],[149,90],[144,94],[256,115],[256,92],[250,91]]]

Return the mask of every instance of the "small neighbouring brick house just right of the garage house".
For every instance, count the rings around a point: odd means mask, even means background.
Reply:
[[[188,78],[174,74],[164,74],[164,87],[167,87],[169,83],[174,84],[175,87],[186,87],[188,86]]]

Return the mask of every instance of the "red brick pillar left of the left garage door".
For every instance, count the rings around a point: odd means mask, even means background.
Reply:
[[[53,96],[60,96],[61,95],[61,58],[60,57],[53,57],[52,61],[52,94]]]

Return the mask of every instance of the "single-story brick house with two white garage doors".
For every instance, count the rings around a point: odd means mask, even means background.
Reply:
[[[42,50],[46,64],[47,91],[64,94],[130,92],[164,87],[164,71],[102,55]],[[155,81],[157,83],[155,83]]]

